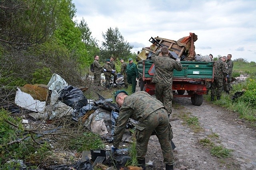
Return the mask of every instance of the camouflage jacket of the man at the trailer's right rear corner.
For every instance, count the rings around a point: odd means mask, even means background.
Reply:
[[[218,59],[214,63],[214,78],[226,78],[228,73],[228,64],[222,61],[222,59]]]

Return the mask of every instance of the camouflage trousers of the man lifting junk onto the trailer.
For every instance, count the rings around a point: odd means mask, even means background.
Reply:
[[[156,83],[155,88],[155,95],[162,104],[164,104],[164,107],[170,115],[172,113],[172,100],[173,100],[173,94],[172,94],[172,86],[170,85],[162,85],[159,83]]]

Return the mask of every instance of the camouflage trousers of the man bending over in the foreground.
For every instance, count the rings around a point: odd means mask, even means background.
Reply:
[[[160,108],[151,113],[144,121],[136,125],[136,150],[137,158],[142,160],[146,158],[148,150],[148,141],[153,131],[156,131],[159,143],[161,145],[164,164],[174,165],[174,156],[172,152],[171,140],[173,138],[172,126],[164,108]]]

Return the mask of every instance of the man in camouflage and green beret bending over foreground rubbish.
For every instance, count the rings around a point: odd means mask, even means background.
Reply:
[[[136,150],[138,164],[145,170],[145,158],[148,149],[148,141],[153,131],[156,131],[166,170],[173,170],[174,156],[171,139],[173,138],[172,126],[162,103],[144,91],[136,92],[128,96],[124,90],[118,90],[115,101],[120,106],[118,120],[114,130],[114,143],[111,147],[115,151],[122,140],[124,130],[129,118],[139,123],[136,125]]]

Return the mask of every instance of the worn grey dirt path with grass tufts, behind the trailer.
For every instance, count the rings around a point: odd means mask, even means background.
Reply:
[[[203,102],[201,106],[191,104],[190,98],[174,98],[176,108],[171,117],[182,113],[191,113],[198,117],[202,131],[195,133],[182,119],[171,121],[176,145],[174,170],[256,170],[256,133],[248,128],[238,115],[222,107]],[[208,135],[217,133],[217,139]],[[210,154],[210,149],[203,147],[200,139],[211,139],[215,145],[232,149],[231,158],[217,158]],[[156,136],[152,136],[146,162],[153,161],[149,170],[163,170],[162,151]]]

